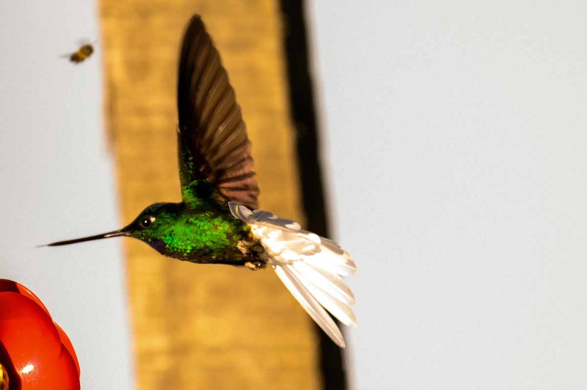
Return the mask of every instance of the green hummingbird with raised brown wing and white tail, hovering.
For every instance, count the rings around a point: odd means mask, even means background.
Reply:
[[[355,297],[341,278],[355,272],[355,263],[338,243],[257,210],[251,141],[220,55],[198,15],[183,39],[177,110],[183,201],[150,205],[120,230],[49,245],[128,236],[192,263],[251,270],[269,265],[325,333],[345,347],[326,310],[355,326],[350,308]]]

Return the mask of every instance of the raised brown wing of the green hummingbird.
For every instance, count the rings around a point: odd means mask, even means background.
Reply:
[[[219,203],[258,208],[259,187],[241,107],[198,15],[191,18],[181,48],[177,110],[184,201],[201,196],[205,181],[220,191],[224,199]]]

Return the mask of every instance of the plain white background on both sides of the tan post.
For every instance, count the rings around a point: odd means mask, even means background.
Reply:
[[[587,386],[587,6],[308,5],[356,389]],[[133,385],[93,2],[0,4],[0,277]],[[72,221],[77,223],[72,224]]]

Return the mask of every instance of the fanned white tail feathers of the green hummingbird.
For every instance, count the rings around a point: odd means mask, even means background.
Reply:
[[[339,347],[345,340],[326,310],[348,326],[356,325],[350,305],[355,296],[340,276],[357,269],[338,243],[302,230],[299,223],[262,210],[228,202],[235,218],[251,226],[265,248],[266,260],[295,299]],[[326,309],[326,310],[324,310]]]

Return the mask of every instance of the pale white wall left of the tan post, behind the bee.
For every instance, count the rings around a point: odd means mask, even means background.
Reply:
[[[102,84],[95,2],[0,2],[0,278],[43,300],[93,390],[134,386],[121,242],[35,246],[121,225]]]

